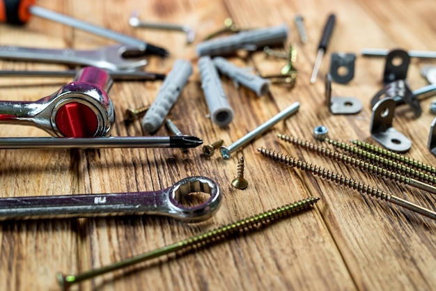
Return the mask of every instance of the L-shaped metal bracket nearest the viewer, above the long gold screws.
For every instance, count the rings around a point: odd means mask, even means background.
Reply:
[[[395,101],[392,98],[384,98],[375,104],[371,116],[371,136],[389,150],[407,152],[412,147],[412,141],[392,127],[394,112]]]

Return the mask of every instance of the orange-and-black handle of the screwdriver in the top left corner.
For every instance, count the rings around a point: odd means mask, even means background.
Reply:
[[[29,21],[29,7],[35,0],[0,0],[0,22],[24,24]]]

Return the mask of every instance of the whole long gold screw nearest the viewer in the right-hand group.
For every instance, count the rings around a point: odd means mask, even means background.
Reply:
[[[293,168],[299,168],[300,170],[311,173],[312,175],[318,175],[321,178],[333,181],[336,184],[340,184],[350,189],[355,189],[368,196],[379,198],[380,200],[389,201],[390,203],[394,203],[398,206],[405,207],[408,210],[412,210],[413,212],[422,214],[425,217],[429,217],[430,219],[436,220],[436,212],[432,210],[411,203],[407,200],[399,198],[398,196],[387,194],[387,192],[385,191],[376,189],[375,187],[371,187],[362,182],[357,182],[352,178],[347,178],[345,175],[340,175],[338,173],[335,173],[334,171],[326,170],[325,168],[322,168],[320,166],[309,164],[307,162],[303,162],[293,157],[288,157],[287,155],[281,152],[275,152],[274,150],[270,150],[267,148],[258,148],[258,151],[265,157],[269,157],[270,159],[273,159],[276,162],[280,162],[282,164],[291,166]]]

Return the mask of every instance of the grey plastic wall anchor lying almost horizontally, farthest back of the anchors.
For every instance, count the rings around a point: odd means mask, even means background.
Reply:
[[[196,53],[198,56],[224,56],[238,49],[255,51],[267,45],[283,45],[288,38],[288,31],[287,24],[241,31],[232,36],[201,42],[196,46]]]

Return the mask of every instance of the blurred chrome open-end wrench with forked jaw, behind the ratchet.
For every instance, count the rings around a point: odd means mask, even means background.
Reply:
[[[140,47],[127,45],[111,45],[94,50],[39,49],[3,45],[0,46],[0,58],[15,61],[91,65],[113,72],[122,72],[139,70],[147,64],[143,58],[124,57],[136,55],[140,49]]]

